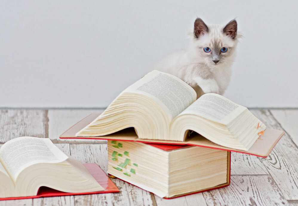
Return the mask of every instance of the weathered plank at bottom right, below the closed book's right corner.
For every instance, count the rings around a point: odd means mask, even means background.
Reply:
[[[287,205],[270,175],[232,175],[230,186],[203,196],[207,205]]]

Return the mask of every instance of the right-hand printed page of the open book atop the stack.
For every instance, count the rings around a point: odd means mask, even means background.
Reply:
[[[231,100],[215,93],[202,95],[193,104],[186,108],[182,114],[196,114],[205,119],[220,124],[228,124],[241,114],[246,107],[232,102]]]

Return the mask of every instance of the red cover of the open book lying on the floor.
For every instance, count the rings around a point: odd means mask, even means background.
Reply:
[[[49,187],[40,187],[36,196],[25,196],[25,197],[7,197],[0,198],[0,200],[10,199],[31,199],[38,197],[53,197],[53,196],[67,196],[67,195],[86,195],[86,194],[98,194],[98,193],[113,193],[119,192],[118,187],[113,181],[107,177],[105,172],[96,163],[83,164],[90,174],[96,179],[96,181],[105,189],[103,191],[87,192],[87,193],[66,193],[58,190],[51,189]]]

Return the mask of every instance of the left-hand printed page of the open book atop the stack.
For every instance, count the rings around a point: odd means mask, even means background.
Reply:
[[[196,100],[191,86],[176,76],[153,70],[123,92],[146,95],[160,104],[170,116],[176,117]]]

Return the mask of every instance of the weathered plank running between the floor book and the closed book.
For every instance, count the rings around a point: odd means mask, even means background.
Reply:
[[[83,163],[95,162],[107,171],[106,144],[71,144],[71,156]],[[119,179],[113,179],[119,193],[75,196],[75,205],[153,205],[149,192]]]

